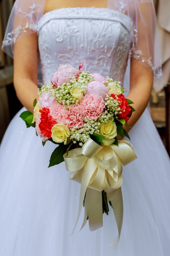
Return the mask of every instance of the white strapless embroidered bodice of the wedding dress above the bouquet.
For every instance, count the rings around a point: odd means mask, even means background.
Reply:
[[[130,18],[104,8],[63,8],[45,13],[38,22],[43,82],[60,63],[97,72],[123,82],[131,42]]]

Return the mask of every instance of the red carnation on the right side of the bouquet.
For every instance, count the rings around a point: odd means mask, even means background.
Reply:
[[[119,94],[119,95],[115,95],[115,94],[111,94],[110,97],[113,97],[115,100],[119,101],[119,105],[118,107],[120,108],[119,114],[117,115],[118,119],[124,119],[127,123],[128,119],[130,117],[128,117],[128,115],[131,112],[131,108],[130,106],[128,106],[128,101],[127,99],[124,97],[124,94]]]

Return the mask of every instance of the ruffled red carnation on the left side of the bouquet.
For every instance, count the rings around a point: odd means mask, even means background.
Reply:
[[[54,124],[56,124],[56,121],[52,119],[49,108],[42,108],[42,110],[40,110],[40,113],[41,121],[39,124],[39,128],[44,136],[51,138],[51,128]]]

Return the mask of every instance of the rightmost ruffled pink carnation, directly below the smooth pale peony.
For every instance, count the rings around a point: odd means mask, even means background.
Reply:
[[[81,106],[84,108],[86,117],[89,120],[96,120],[104,111],[105,102],[101,96],[85,95],[81,102]]]

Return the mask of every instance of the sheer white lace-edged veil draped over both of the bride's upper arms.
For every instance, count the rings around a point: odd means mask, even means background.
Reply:
[[[45,0],[16,0],[2,42],[2,50],[13,58],[17,40],[38,30]],[[108,8],[128,15],[132,20],[130,57],[152,70],[155,81],[162,75],[161,51],[155,7],[152,0],[108,0]],[[155,83],[159,91],[159,83]]]

